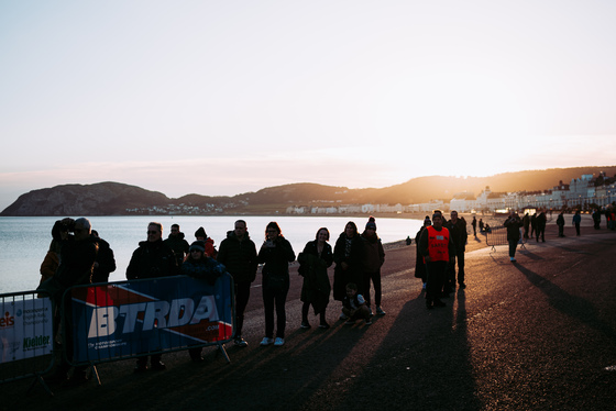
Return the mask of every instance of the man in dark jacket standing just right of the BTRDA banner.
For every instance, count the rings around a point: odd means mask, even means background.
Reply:
[[[251,285],[256,278],[258,263],[256,260],[256,245],[250,238],[244,220],[235,221],[233,231],[229,231],[227,238],[220,243],[218,260],[233,276],[235,287],[235,335],[233,342],[239,347],[246,347],[249,343],[242,338],[242,327]]]

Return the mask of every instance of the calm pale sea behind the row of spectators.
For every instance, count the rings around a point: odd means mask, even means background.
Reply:
[[[265,226],[276,221],[283,235],[292,243],[296,253],[300,253],[307,242],[315,240],[317,230],[328,227],[333,246],[338,235],[344,230],[348,221],[354,221],[363,231],[367,218],[348,216],[240,216],[245,220],[251,238],[257,248],[264,240]],[[110,281],[125,279],[127,266],[140,241],[146,238],[150,221],[163,224],[163,237],[169,234],[173,223],[180,226],[188,243],[195,241],[195,231],[199,226],[206,229],[215,245],[227,237],[233,230],[233,223],[240,219],[233,215],[184,216],[184,215],[139,215],[139,216],[92,216],[89,218],[92,229],[111,245],[116,255],[118,269],[110,275]],[[41,279],[40,267],[52,241],[52,226],[57,218],[28,216],[0,218],[0,293],[28,291],[37,287]],[[421,226],[420,220],[376,219],[377,233],[384,243],[404,240],[407,235],[415,237]]]

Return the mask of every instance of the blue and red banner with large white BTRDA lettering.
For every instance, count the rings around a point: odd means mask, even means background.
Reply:
[[[73,363],[227,341],[233,333],[232,278],[209,285],[187,276],[72,290]]]

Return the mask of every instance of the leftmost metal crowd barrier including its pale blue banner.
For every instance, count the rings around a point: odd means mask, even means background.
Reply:
[[[41,382],[52,393],[42,378],[54,366],[52,300],[41,291],[4,293],[0,310],[0,385],[33,378],[32,386]]]

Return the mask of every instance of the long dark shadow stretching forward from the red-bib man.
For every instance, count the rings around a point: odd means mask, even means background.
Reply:
[[[464,291],[447,308],[427,310],[424,293],[406,302],[366,371],[346,396],[380,409],[481,410],[470,357]],[[383,321],[384,319],[381,319]]]

